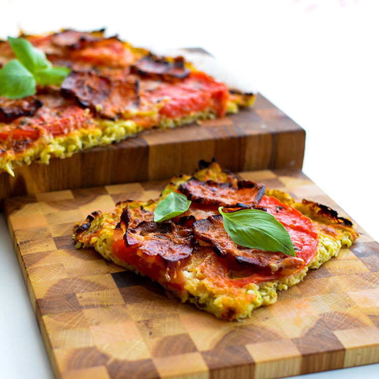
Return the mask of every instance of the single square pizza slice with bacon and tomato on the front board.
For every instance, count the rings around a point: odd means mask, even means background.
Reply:
[[[188,209],[154,221],[157,207],[172,193],[185,195]],[[292,255],[243,246],[231,237],[224,215],[252,210],[273,216],[284,227]],[[265,238],[275,234],[266,227],[260,232]],[[326,206],[298,203],[284,192],[241,181],[213,162],[193,176],[173,178],[157,200],[128,200],[119,202],[114,213],[93,212],[75,225],[73,237],[76,248],[95,248],[183,302],[235,320],[274,303],[278,290],[299,283],[342,245],[351,246],[358,233],[351,221]]]

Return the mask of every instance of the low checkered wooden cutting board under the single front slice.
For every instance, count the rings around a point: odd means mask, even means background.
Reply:
[[[244,172],[327,204],[300,170]],[[258,379],[379,362],[379,244],[361,236],[278,302],[225,322],[158,284],[74,248],[73,225],[164,182],[67,190],[5,201],[19,264],[53,371],[62,379]]]

